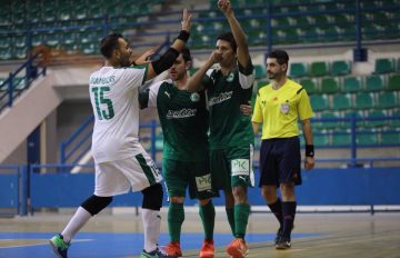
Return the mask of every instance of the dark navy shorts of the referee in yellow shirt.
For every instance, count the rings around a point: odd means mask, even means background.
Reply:
[[[299,137],[262,140],[260,148],[260,187],[279,187],[281,182],[301,185],[300,167]]]

